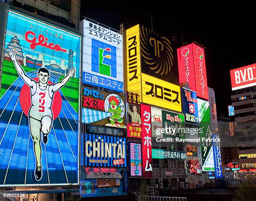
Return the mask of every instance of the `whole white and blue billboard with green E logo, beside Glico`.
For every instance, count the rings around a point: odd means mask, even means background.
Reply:
[[[83,83],[123,92],[123,36],[87,20],[83,34]]]

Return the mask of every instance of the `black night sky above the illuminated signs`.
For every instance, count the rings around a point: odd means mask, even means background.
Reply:
[[[153,30],[175,39],[175,48],[194,41],[200,43],[205,47],[207,84],[215,90],[217,113],[227,116],[231,104],[230,69],[256,63],[254,6],[224,5],[223,1],[205,8],[199,1],[123,2],[82,0],[80,20],[85,16],[116,30],[121,23],[125,29],[138,23],[151,29],[152,14]],[[177,58],[174,59],[177,65]]]

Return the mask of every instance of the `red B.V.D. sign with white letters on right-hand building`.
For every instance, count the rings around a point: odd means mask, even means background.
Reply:
[[[256,85],[256,64],[230,70],[232,91]]]

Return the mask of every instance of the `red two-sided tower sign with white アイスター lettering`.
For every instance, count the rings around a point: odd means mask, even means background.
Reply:
[[[195,43],[177,49],[179,83],[187,82],[197,97],[208,99],[205,50]]]

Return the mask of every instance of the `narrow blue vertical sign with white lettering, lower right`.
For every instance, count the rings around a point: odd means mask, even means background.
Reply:
[[[214,168],[215,168],[215,178],[222,178],[222,165],[221,165],[221,155],[220,155],[220,142],[218,142],[219,135],[212,134],[212,148],[213,148],[213,158],[214,158]]]

